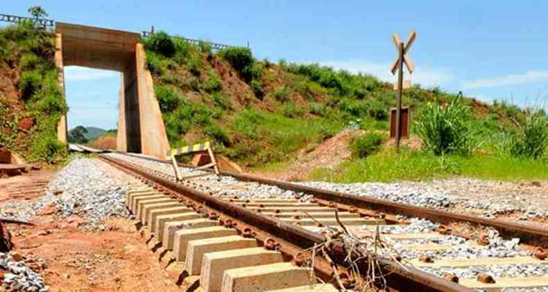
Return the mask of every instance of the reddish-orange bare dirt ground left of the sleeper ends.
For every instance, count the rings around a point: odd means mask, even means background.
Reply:
[[[54,173],[0,179],[0,200],[35,201],[41,194],[8,195],[10,185],[30,184]],[[164,270],[130,219],[110,219],[104,222],[105,231],[86,232],[78,228],[83,219],[59,217],[49,206],[31,221],[35,226],[5,225],[15,244],[12,251],[44,277],[50,291],[179,291],[177,275]]]

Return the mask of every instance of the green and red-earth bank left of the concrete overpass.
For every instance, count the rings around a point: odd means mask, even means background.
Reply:
[[[58,86],[53,34],[31,22],[0,28],[0,147],[28,161],[58,163],[56,131],[67,104]]]

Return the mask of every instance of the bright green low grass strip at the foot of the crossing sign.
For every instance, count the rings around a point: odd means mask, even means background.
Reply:
[[[547,161],[493,155],[434,156],[402,148],[342,163],[336,170],[317,168],[308,179],[336,183],[425,181],[452,176],[502,181],[547,180]]]

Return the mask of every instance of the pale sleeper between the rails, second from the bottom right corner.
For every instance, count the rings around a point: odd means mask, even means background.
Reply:
[[[451,266],[454,268],[466,266],[492,266],[495,264],[548,264],[534,257],[486,257],[482,259],[434,259],[433,263],[420,262],[411,259],[413,266]]]

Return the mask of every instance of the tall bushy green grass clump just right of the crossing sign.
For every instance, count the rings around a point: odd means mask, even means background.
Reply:
[[[455,98],[445,107],[430,102],[426,104],[416,119],[422,147],[435,155],[470,154],[473,137],[469,112],[460,98]]]

